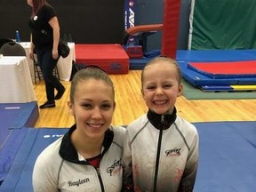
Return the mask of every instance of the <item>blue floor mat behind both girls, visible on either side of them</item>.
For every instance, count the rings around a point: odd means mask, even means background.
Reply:
[[[256,122],[194,123],[199,167],[194,192],[255,192]],[[36,156],[68,129],[29,129],[0,191],[32,192]]]

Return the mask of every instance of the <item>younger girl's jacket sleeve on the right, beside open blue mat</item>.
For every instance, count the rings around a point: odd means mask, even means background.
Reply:
[[[190,149],[188,152],[188,160],[183,172],[178,192],[192,192],[196,182],[196,172],[198,165],[198,133],[194,132]]]

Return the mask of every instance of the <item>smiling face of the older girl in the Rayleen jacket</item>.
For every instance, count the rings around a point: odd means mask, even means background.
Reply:
[[[76,118],[76,131],[85,138],[100,139],[108,130],[116,107],[112,87],[102,80],[78,82],[74,103],[68,102]]]

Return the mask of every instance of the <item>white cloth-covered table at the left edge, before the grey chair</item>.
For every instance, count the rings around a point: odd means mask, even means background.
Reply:
[[[25,103],[36,100],[26,57],[2,57],[0,82],[0,103]]]

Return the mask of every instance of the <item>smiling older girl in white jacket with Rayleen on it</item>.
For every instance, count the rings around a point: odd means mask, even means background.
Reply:
[[[114,85],[99,68],[74,76],[68,101],[76,124],[37,157],[34,191],[121,191],[125,129],[111,126]]]

